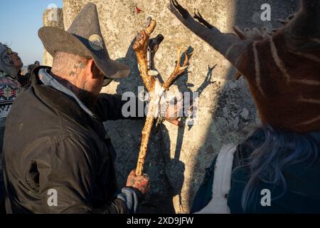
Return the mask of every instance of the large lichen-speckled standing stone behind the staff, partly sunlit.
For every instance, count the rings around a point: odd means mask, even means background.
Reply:
[[[88,0],[64,0],[64,26],[70,23]],[[196,125],[176,127],[169,123],[151,136],[146,157],[145,170],[151,177],[151,190],[140,207],[140,212],[190,212],[193,197],[203,180],[205,168],[210,165],[220,148],[230,142],[238,143],[245,137],[244,129],[259,123],[255,104],[241,78],[235,81],[235,69],[213,48],[188,31],[167,8],[169,1],[143,0],[92,0],[97,4],[102,35],[110,56],[126,63],[132,71],[128,78],[114,81],[103,89],[105,93],[122,94],[133,91],[142,80],[137,68],[137,59],[132,43],[151,15],[157,21],[154,36],[164,35],[156,53],[156,68],[165,80],[173,71],[176,48],[191,47],[194,54],[188,75],[180,78],[176,85],[181,92],[200,93],[198,121]],[[278,18],[284,18],[297,9],[297,1],[215,1],[181,0],[190,12],[199,9],[205,19],[231,32],[234,25],[240,28],[252,26],[279,26]],[[262,4],[272,6],[272,21],[261,21]],[[136,5],[143,12],[137,14]],[[215,66],[216,65],[216,66]],[[215,68],[212,73],[208,66]],[[213,81],[214,83],[210,83]],[[116,161],[119,185],[124,185],[129,171],[137,162],[143,120],[117,120],[105,123],[118,156]]]

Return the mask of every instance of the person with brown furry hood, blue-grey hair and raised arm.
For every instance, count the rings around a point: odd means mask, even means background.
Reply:
[[[236,35],[176,0],[170,9],[245,77],[262,122],[220,150],[191,212],[320,213],[320,1],[302,0],[275,32],[235,27]]]

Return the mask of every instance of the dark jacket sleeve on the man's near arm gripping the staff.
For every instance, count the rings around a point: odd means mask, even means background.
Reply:
[[[83,138],[67,137],[41,152],[39,194],[46,213],[127,213],[127,206],[115,197],[102,202],[102,208],[93,207],[93,200],[99,199],[95,191],[99,157],[92,148],[95,145]]]

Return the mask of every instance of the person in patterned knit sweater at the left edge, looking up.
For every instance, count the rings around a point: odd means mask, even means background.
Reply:
[[[4,178],[2,175],[2,147],[6,117],[11,105],[21,90],[17,75],[23,66],[18,53],[0,43],[0,211],[4,209]]]

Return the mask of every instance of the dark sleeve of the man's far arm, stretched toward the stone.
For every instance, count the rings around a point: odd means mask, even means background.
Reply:
[[[133,93],[132,93],[133,94]],[[95,106],[95,114],[104,122],[107,120],[143,119],[144,102],[137,97],[123,97],[100,93]]]

